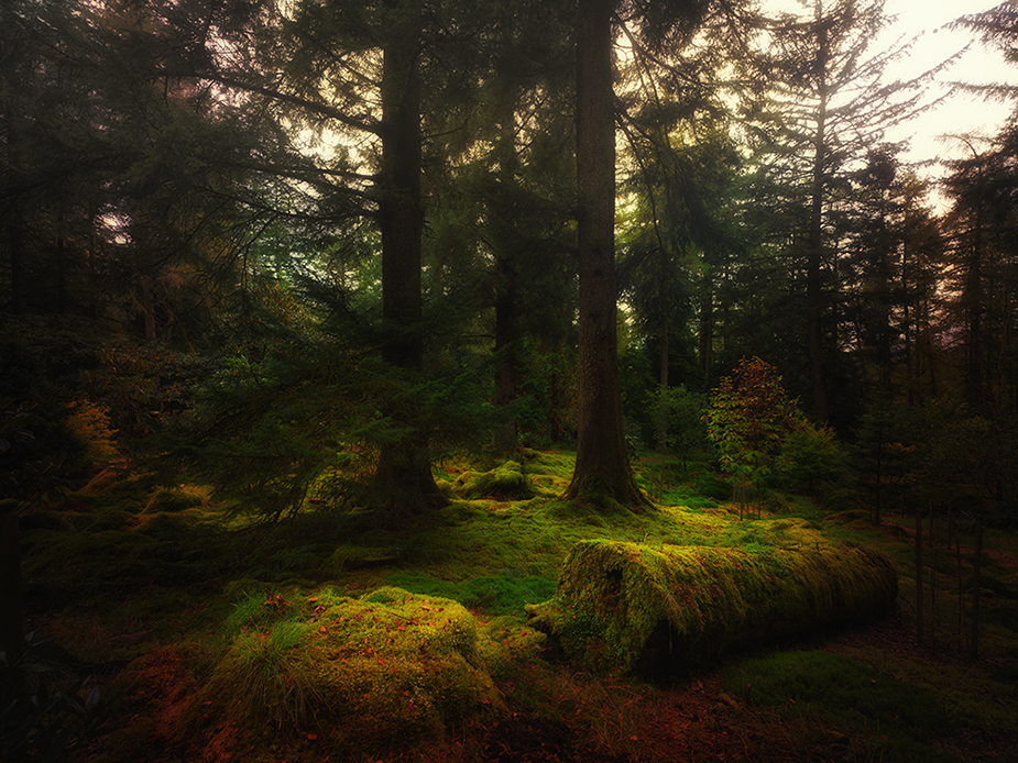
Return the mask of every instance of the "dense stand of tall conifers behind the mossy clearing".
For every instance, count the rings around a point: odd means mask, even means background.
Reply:
[[[13,399],[43,395],[18,369],[50,312],[200,358],[138,363],[119,397],[100,397],[127,368],[109,338],[83,342],[87,376],[41,360],[44,396],[125,432],[182,406],[264,435],[283,397],[226,391],[317,379],[335,405],[275,455],[343,453],[359,500],[402,516],[447,499],[431,466],[464,442],[576,443],[570,498],[646,508],[630,452],[668,446],[669,387],[705,394],[742,357],[845,438],[877,395],[1012,416],[1014,129],[967,139],[933,207],[884,136],[940,67],[888,81],[910,43],[872,49],[878,0],[0,13]],[[955,26],[1007,58],[1012,21]]]

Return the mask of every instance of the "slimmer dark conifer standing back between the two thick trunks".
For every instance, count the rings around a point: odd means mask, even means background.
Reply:
[[[461,92],[428,114],[431,155],[442,157],[427,174],[426,256],[441,274],[433,303],[461,317],[448,351],[458,362],[467,343],[494,336],[493,444],[505,455],[518,447],[528,347],[565,341],[576,309],[574,56],[563,11],[535,0],[478,5],[470,43],[440,53]]]

